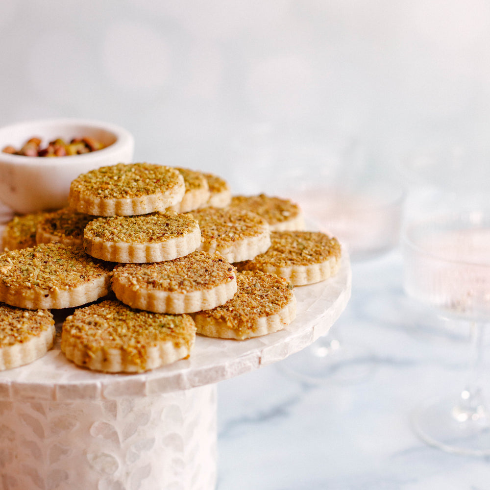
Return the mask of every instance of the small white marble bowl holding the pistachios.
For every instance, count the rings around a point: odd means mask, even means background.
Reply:
[[[61,157],[3,153],[6,146],[21,148],[32,137],[42,146],[62,138],[92,137],[105,147],[90,153]],[[130,163],[134,138],[115,124],[85,119],[29,121],[0,128],[0,200],[17,213],[55,209],[68,204],[72,180],[105,165]]]

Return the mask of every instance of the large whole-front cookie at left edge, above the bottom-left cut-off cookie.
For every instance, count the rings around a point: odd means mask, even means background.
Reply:
[[[40,244],[0,255],[0,301],[20,308],[70,308],[108,293],[110,267],[82,246]]]

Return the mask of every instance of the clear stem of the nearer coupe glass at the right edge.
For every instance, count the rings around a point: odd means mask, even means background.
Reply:
[[[487,409],[483,400],[481,374],[483,368],[484,337],[486,325],[479,322],[470,323],[470,357],[468,379],[465,389],[460,393],[460,403],[454,408],[454,417],[461,422],[466,420],[483,421]]]

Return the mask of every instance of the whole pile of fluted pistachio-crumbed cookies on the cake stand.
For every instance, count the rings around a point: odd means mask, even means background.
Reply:
[[[294,286],[328,279],[340,265],[337,240],[303,231],[296,204],[231,196],[212,174],[102,167],[72,182],[69,203],[6,227],[0,370],[49,350],[51,309],[74,308],[61,332],[66,357],[104,372],[186,358],[196,333],[269,334],[295,318]]]

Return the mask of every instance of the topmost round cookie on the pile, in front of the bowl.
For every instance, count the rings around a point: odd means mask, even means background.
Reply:
[[[149,163],[100,167],[70,186],[70,207],[96,216],[132,216],[165,211],[182,200],[184,177],[176,169]]]

